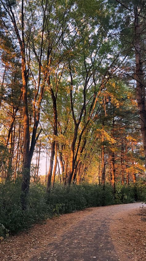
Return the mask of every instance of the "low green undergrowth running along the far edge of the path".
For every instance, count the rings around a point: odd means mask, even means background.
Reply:
[[[55,184],[49,198],[46,188],[41,184],[30,184],[27,198],[27,209],[21,208],[21,180],[0,183],[0,237],[6,237],[30,228],[33,223],[40,222],[52,215],[71,213],[87,207],[106,206],[112,204],[146,201],[144,182],[122,186],[116,185],[116,194],[110,184],[103,188],[99,184],[82,183],[68,186]]]

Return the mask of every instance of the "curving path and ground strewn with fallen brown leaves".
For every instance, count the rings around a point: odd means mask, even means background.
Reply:
[[[95,207],[48,219],[2,241],[0,260],[145,261],[146,221],[140,207]]]

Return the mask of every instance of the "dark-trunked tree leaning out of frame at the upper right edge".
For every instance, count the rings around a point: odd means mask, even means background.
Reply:
[[[123,11],[122,18],[124,24],[132,24],[132,28],[128,25],[126,29],[127,36],[130,37],[130,42],[125,36],[124,27],[119,26],[121,30],[121,41],[126,46],[126,52],[131,59],[131,68],[128,67],[126,74],[130,75],[131,79],[136,81],[136,100],[140,114],[140,126],[144,145],[144,154],[146,160],[146,95],[145,95],[145,1],[124,1],[116,0],[119,4],[119,11]],[[123,23],[123,21],[122,21]],[[133,59],[132,59],[133,58]],[[135,66],[133,66],[133,61]],[[145,165],[146,166],[146,165]]]

